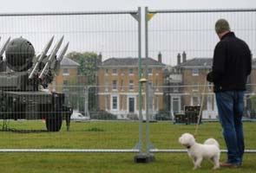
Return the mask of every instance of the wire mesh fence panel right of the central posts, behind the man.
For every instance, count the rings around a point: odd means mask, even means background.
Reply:
[[[185,115],[185,106],[202,106],[199,141],[210,135],[219,138],[221,148],[225,149],[220,125],[210,123],[218,121],[218,112],[212,85],[206,83],[206,75],[212,68],[213,49],[219,42],[214,24],[220,18],[230,23],[231,30],[247,42],[253,54],[244,112],[244,119],[250,121],[244,124],[245,134],[251,134],[252,122],[255,121],[255,13],[256,10],[148,10],[148,57],[158,56],[166,65],[162,86],[164,105],[156,112],[155,118],[173,119],[162,125],[150,125],[150,142],[156,148],[151,147],[150,151],[186,151],[179,147],[178,138],[182,132],[194,133],[195,120]],[[167,133],[169,138],[166,138]],[[246,149],[253,151],[254,142],[251,138],[246,139],[250,141]]]

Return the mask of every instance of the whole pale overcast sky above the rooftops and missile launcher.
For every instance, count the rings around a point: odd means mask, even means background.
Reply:
[[[0,13],[137,10],[256,9],[256,0],[0,0]],[[143,14],[143,13],[142,13]],[[218,37],[214,22],[226,18],[236,35],[256,54],[256,12],[157,14],[148,22],[149,56],[176,63],[176,55],[187,52],[188,59],[211,58]],[[144,17],[142,16],[142,20]],[[69,51],[102,53],[111,57],[137,57],[138,22],[129,14],[85,16],[1,16],[1,45],[7,38],[23,36],[39,54],[52,35],[55,42],[65,35]],[[142,37],[143,37],[142,22]],[[144,51],[142,38],[142,56]]]

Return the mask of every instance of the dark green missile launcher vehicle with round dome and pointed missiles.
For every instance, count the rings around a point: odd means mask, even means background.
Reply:
[[[64,93],[47,90],[66,53],[69,42],[62,48],[64,36],[47,54],[54,40],[51,37],[41,54],[20,37],[3,43],[0,49],[0,119],[45,119],[48,131],[60,131],[62,119],[69,129],[72,108],[65,105]],[[5,56],[3,53],[5,52]]]

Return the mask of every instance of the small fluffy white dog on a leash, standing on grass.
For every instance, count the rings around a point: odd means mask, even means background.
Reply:
[[[214,170],[220,168],[220,144],[214,138],[208,138],[204,144],[198,144],[192,134],[184,133],[179,142],[187,147],[187,154],[193,160],[194,170],[200,167],[203,159],[210,160]]]

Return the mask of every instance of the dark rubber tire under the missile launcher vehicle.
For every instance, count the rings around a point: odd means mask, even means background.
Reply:
[[[47,131],[60,131],[62,128],[62,116],[55,115],[45,119]]]

